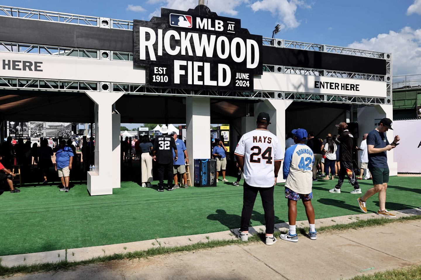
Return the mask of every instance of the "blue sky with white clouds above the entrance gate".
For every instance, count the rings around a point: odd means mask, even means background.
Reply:
[[[221,16],[240,18],[252,34],[392,52],[393,75],[421,74],[421,0],[205,0]],[[149,20],[160,7],[187,10],[197,0],[2,0],[2,5],[87,16]],[[28,42],[29,43],[29,42]],[[395,79],[396,81],[397,79]]]

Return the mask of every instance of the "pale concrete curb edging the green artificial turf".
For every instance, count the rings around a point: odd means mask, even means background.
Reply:
[[[411,215],[421,215],[421,207],[416,209],[405,209],[405,210],[397,210],[391,211],[394,213],[397,218],[400,217],[407,217]],[[367,213],[367,214],[355,214],[355,215],[346,215],[346,216],[339,216],[339,217],[330,217],[330,218],[323,218],[316,220],[316,228],[320,228],[321,226],[329,226],[329,225],[337,225],[337,224],[348,224],[351,222],[355,222],[357,220],[368,220],[370,218],[378,218],[380,217],[375,213]],[[298,227],[308,227],[308,222],[305,221],[297,221]],[[250,227],[249,234],[253,235],[257,232],[261,232],[265,230],[264,225]],[[288,223],[282,222],[275,224],[274,230],[288,230]],[[104,255],[112,255],[112,254],[121,254],[133,251],[143,251],[150,248],[157,248],[159,246],[184,246],[184,245],[191,245],[198,242],[208,242],[209,240],[232,240],[235,239],[239,232],[239,228],[235,228],[232,230],[226,230],[216,233],[205,233],[205,234],[197,234],[197,235],[190,235],[190,236],[176,236],[176,237],[168,237],[168,238],[157,238],[145,241],[136,241],[130,243],[120,243],[120,244],[111,244],[111,245],[103,245],[103,246],[94,246],[94,247],[85,247],[85,248],[75,248],[75,249],[68,249],[67,250],[67,260],[69,262],[77,262],[83,261],[87,259],[92,259],[98,256]],[[47,262],[61,262],[65,259],[65,250],[57,250],[57,251],[47,251],[47,252],[40,252],[40,253],[31,253],[31,254],[19,254],[19,255],[8,255],[8,256],[0,256],[2,259],[1,265],[5,267],[11,267],[16,265],[31,265],[31,264],[41,264]]]

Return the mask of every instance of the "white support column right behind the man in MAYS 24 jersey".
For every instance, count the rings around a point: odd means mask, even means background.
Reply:
[[[287,110],[292,102],[292,100],[266,99],[264,102],[259,102],[254,105],[255,119],[261,112],[269,114],[271,124],[268,126],[268,129],[277,136],[282,148],[282,153],[285,153],[285,110]],[[282,165],[279,172],[278,183],[285,183],[285,180],[282,178]]]

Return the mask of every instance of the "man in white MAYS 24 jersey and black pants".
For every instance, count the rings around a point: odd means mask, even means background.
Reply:
[[[251,212],[257,193],[260,192],[266,221],[266,245],[276,242],[273,236],[273,190],[282,161],[279,141],[276,135],[267,130],[269,120],[268,113],[260,113],[257,116],[257,128],[241,137],[234,152],[244,173],[241,228],[238,238],[242,241],[248,240]]]

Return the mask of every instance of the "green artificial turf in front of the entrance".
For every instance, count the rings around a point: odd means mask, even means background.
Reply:
[[[227,177],[230,182],[234,178]],[[156,182],[155,182],[156,183]],[[242,182],[241,182],[242,183]],[[314,182],[312,203],[316,218],[361,213],[358,195],[349,194],[345,182],[341,194],[328,192],[336,181]],[[364,192],[371,181],[361,181]],[[283,184],[274,191],[275,222],[288,220]],[[391,177],[387,190],[388,210],[416,208],[421,205],[421,177]],[[242,187],[219,181],[217,187],[174,191],[142,188],[122,182],[113,195],[89,196],[86,185],[75,185],[69,193],[55,186],[21,188],[20,194],[0,196],[0,255],[24,254],[65,248],[184,236],[223,231],[240,226]],[[378,209],[378,198],[367,201],[369,212]],[[298,203],[297,220],[306,220]],[[258,197],[251,225],[264,224]]]

